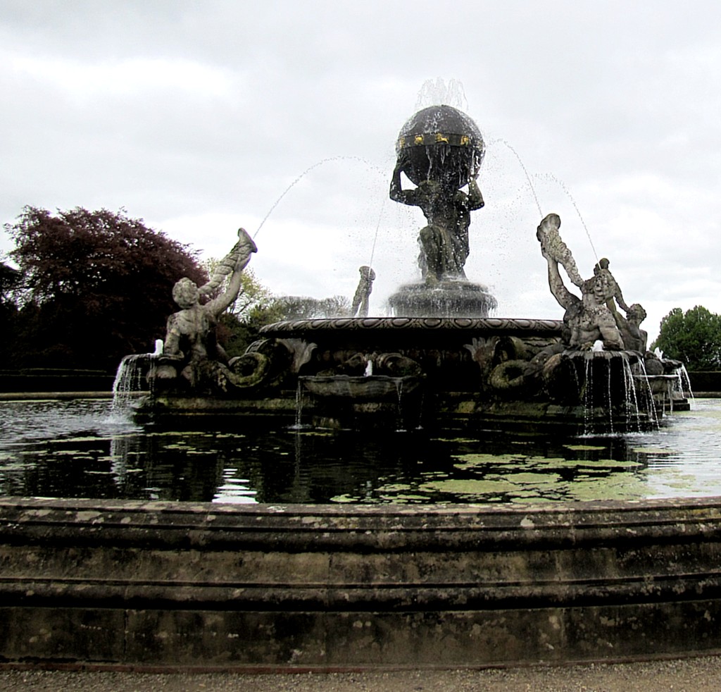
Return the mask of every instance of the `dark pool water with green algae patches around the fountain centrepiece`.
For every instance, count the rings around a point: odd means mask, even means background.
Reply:
[[[721,400],[598,437],[166,429],[110,401],[0,403],[0,494],[187,502],[557,502],[721,495]],[[200,421],[205,423],[205,421]]]

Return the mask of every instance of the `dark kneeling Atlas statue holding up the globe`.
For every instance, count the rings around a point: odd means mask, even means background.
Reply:
[[[428,226],[420,229],[419,236],[418,264],[423,278],[429,284],[445,279],[465,279],[471,212],[484,206],[476,182],[477,170],[469,175],[467,194],[457,188],[454,172],[423,180],[413,190],[404,190],[401,172],[406,165],[407,159],[401,154],[393,171],[390,198],[409,206],[419,206],[428,220]]]

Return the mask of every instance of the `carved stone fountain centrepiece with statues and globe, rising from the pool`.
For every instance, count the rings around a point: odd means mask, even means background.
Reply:
[[[169,319],[139,416],[620,432],[653,425],[664,408],[686,405],[676,386],[681,364],[647,351],[645,311],[626,304],[608,259],[590,278],[580,276],[557,214],[541,220],[536,236],[562,320],[489,316],[495,298],[464,271],[472,212],[484,206],[477,177],[485,145],[468,115],[447,105],[420,110],[402,127],[396,151],[390,197],[420,207],[428,224],[418,238],[420,281],[389,299],[394,316],[367,316],[375,274],[362,267],[354,316],[268,325],[245,354],[229,358],[213,325],[256,251],[241,229],[207,286],[185,279],[174,289],[181,310]],[[415,187],[404,188],[402,175]]]

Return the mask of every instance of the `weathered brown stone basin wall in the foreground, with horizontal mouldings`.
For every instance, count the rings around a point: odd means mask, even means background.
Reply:
[[[473,666],[720,648],[721,503],[0,501],[5,662]]]

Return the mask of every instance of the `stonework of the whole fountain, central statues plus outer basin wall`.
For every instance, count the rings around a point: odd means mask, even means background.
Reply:
[[[208,284],[175,286],[180,310],[162,354],[146,359],[152,391],[140,419],[176,426],[190,416],[211,431],[218,416],[236,429],[262,419],[422,425],[479,438],[495,428],[622,432],[682,407],[671,386],[681,364],[647,352],[645,313],[627,305],[607,259],[583,279],[557,215],[536,235],[562,319],[489,316],[494,299],[464,274],[483,152],[466,115],[421,111],[397,152],[391,196],[420,206],[428,224],[420,281],[394,295],[396,315],[364,314],[373,281],[364,267],[358,315],[269,325],[229,357],[215,324],[256,251],[241,229]],[[402,173],[415,188],[404,190]],[[720,517],[718,498],[486,507],[4,498],[0,657],[312,672],[717,652]]]

